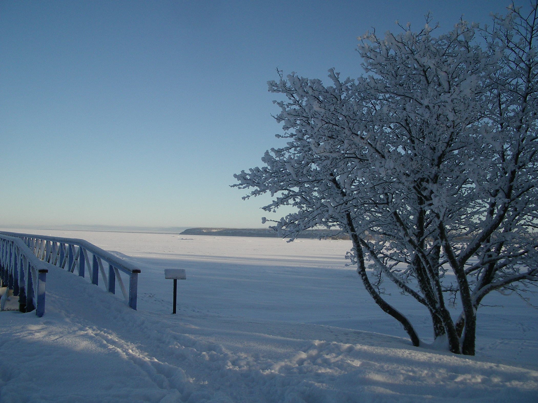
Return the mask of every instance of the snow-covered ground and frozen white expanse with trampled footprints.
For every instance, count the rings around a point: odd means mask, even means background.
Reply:
[[[392,292],[412,347],[345,267],[349,241],[17,232],[86,239],[142,273],[138,311],[51,267],[43,318],[0,312],[0,402],[538,401],[535,308],[486,298],[462,357],[428,348],[428,313]],[[187,270],[176,315],[166,268]]]

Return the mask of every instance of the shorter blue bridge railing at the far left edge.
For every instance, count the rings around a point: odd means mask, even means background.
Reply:
[[[40,261],[22,239],[0,233],[2,286],[19,297],[19,311],[36,310],[37,316],[43,316],[47,272],[47,264]]]

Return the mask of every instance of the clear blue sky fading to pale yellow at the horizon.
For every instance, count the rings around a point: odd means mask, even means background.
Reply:
[[[0,0],[0,225],[263,227],[270,199],[229,185],[282,144],[277,67],[357,77],[372,27],[507,4]]]

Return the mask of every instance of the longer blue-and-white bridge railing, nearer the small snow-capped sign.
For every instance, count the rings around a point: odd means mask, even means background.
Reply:
[[[67,269],[72,273],[76,268],[78,275],[81,277],[84,277],[86,267],[88,267],[91,283],[95,285],[98,285],[99,273],[101,273],[105,288],[112,294],[116,293],[117,280],[126,302],[133,310],[136,310],[138,274],[140,270],[129,262],[121,260],[83,239],[0,232],[0,238],[9,237],[21,239],[26,247],[30,249],[34,258],[62,269]],[[105,272],[104,264],[108,264],[108,276]],[[118,270],[129,276],[129,293],[125,289]],[[13,291],[13,294],[15,295],[15,291]]]

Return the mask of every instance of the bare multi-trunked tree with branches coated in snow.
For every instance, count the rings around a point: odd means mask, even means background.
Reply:
[[[536,9],[512,6],[484,28],[459,21],[438,37],[429,19],[420,32],[366,33],[357,80],[331,69],[327,87],[280,71],[268,82],[286,97],[275,118],[289,140],[233,186],[253,188],[245,198],[270,192],[266,211],[297,208],[275,221],[282,236],[348,233],[366,290],[415,346],[381,281],[424,305],[435,338],[466,355],[483,298],[538,281]]]

